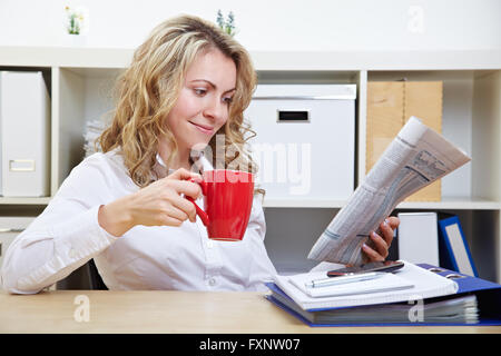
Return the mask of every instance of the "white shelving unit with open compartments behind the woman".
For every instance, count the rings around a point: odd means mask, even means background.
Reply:
[[[114,80],[128,66],[132,52],[131,49],[0,47],[0,69],[38,68],[49,78],[51,195],[82,158],[86,121],[112,108]],[[354,179],[358,184],[365,176],[367,81],[443,80],[442,134],[470,154],[472,161],[442,180],[441,201],[405,201],[397,209],[461,215],[481,277],[501,281],[501,51],[253,52],[252,57],[263,83],[357,85],[357,159],[354,162],[357,175]],[[19,210],[49,201],[50,197],[0,198],[0,207],[16,206]],[[301,265],[297,259],[305,259],[318,237],[316,230],[322,231],[344,204],[265,200],[267,239],[272,238],[268,251],[272,259],[276,257],[276,265],[284,266],[284,270],[293,261]],[[294,219],[286,215],[293,215]],[[315,220],[314,216],[323,218]],[[291,221],[303,225],[315,221],[321,226],[307,237],[285,236],[294,231],[279,233],[276,226],[294,224]],[[287,247],[284,247],[284,239]],[[297,240],[301,244],[294,243]],[[288,255],[287,248],[291,249]],[[297,255],[298,250],[302,256]],[[302,266],[310,265],[303,263]]]

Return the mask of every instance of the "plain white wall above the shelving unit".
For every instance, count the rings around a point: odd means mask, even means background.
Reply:
[[[501,49],[499,0],[0,0],[0,46],[67,46],[66,4],[89,10],[88,47],[135,48],[164,19],[222,9],[252,51]]]

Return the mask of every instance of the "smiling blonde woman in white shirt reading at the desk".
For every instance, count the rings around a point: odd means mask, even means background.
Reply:
[[[247,51],[215,26],[184,16],[155,28],[118,82],[104,152],[78,165],[12,243],[3,287],[38,293],[94,258],[109,289],[263,289],[276,271],[258,191],[242,243],[209,240],[185,197],[200,198],[193,149],[214,148],[216,134],[236,156],[213,165],[255,169],[243,120],[255,85]],[[387,255],[390,225],[371,259]]]

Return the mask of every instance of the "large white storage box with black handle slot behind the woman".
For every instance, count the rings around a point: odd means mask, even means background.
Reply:
[[[259,85],[245,118],[266,200],[346,200],[355,180],[355,85]]]

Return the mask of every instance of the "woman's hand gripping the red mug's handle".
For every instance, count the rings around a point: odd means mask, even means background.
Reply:
[[[185,220],[196,221],[193,202],[181,195],[197,199],[200,186],[191,182],[200,175],[180,168],[138,191],[99,208],[99,225],[114,236],[122,236],[136,225],[180,226]]]

